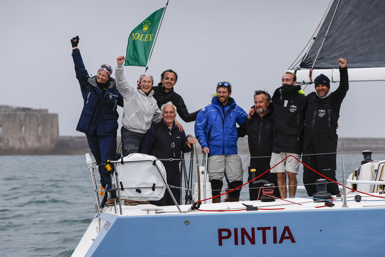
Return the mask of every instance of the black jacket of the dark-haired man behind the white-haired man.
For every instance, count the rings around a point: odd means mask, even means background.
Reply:
[[[176,106],[176,111],[178,112],[180,118],[184,122],[195,121],[196,115],[200,110],[189,113],[187,107],[183,101],[183,98],[177,94],[174,89],[171,89],[170,92],[166,93],[165,88],[162,86],[162,83],[159,83],[156,87],[152,88],[154,90],[154,98],[157,100],[157,106],[160,107],[167,102],[172,102]]]

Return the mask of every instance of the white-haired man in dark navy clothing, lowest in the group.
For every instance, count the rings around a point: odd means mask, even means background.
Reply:
[[[167,102],[161,107],[162,119],[159,123],[152,124],[144,136],[141,152],[154,155],[166,168],[167,184],[180,187],[179,162],[181,152],[190,152],[191,144],[195,144],[194,138],[187,140],[186,134],[179,131],[175,125],[176,107],[172,102]],[[180,203],[180,189],[172,187],[171,191],[178,203]],[[162,199],[152,202],[158,206],[174,205],[168,190]]]

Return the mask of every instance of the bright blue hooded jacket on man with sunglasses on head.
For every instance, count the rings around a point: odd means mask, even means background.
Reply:
[[[212,97],[211,104],[199,111],[195,121],[195,137],[202,148],[209,147],[210,155],[237,154],[238,131],[247,113],[229,97],[226,106]]]

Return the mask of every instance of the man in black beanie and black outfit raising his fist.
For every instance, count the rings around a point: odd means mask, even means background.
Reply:
[[[320,74],[314,80],[315,92],[306,96],[307,111],[302,147],[303,162],[333,181],[336,181],[338,141],[336,128],[342,101],[349,90],[347,61],[340,58],[338,64],[340,66],[339,87],[331,92],[330,79],[324,74]],[[313,170],[303,167],[303,183],[308,196],[313,196],[316,192],[314,182],[319,178],[320,176]],[[328,183],[327,190],[332,195],[339,195],[338,185],[335,183]]]

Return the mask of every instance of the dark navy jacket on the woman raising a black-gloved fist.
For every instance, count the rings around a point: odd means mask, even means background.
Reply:
[[[116,89],[115,79],[108,79],[108,89],[102,95],[96,84],[96,76],[89,77],[80,51],[74,51],[72,58],[84,100],[76,130],[99,136],[116,136],[119,127],[116,109],[118,105],[123,107],[123,97]]]

